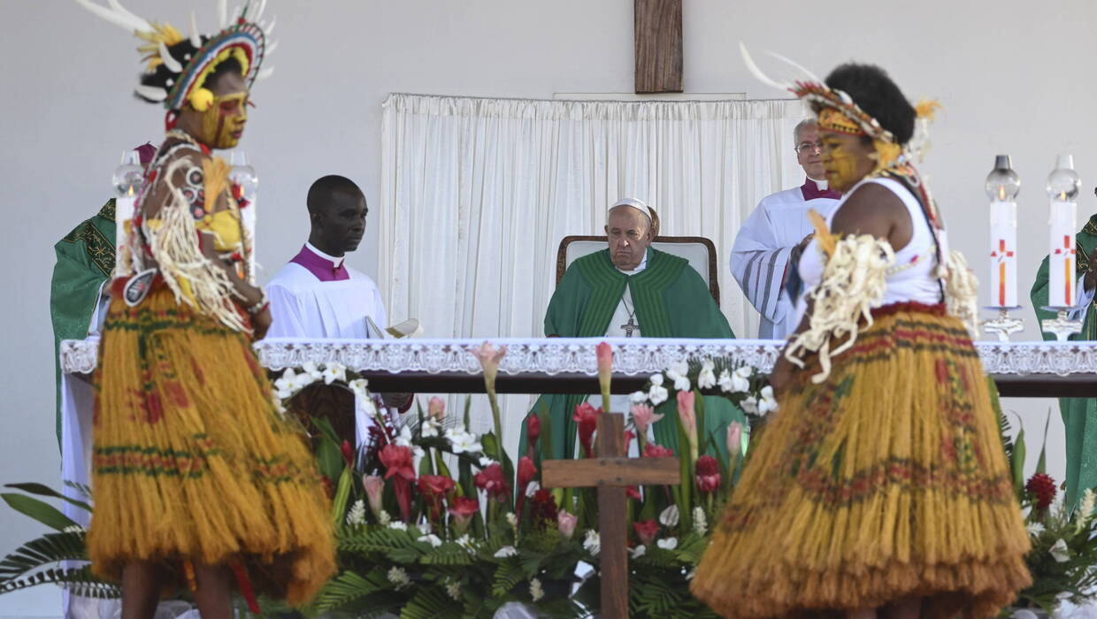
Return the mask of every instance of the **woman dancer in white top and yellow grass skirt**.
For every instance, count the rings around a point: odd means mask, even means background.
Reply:
[[[907,162],[916,110],[877,67],[793,88],[846,198],[800,274],[803,319],[693,593],[726,617],[993,617],[1030,582],[975,284]]]

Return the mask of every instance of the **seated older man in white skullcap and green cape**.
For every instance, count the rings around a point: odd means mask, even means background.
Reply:
[[[610,210],[608,248],[577,259],[561,279],[545,312],[548,337],[735,337],[704,280],[681,257],[651,247],[658,216],[644,203],[626,198]],[[576,405],[589,396],[546,394],[531,413],[551,414],[552,450],[543,458],[573,458],[576,452]],[[596,400],[597,406],[601,405]],[[627,413],[627,397],[613,397],[612,412]],[[706,435],[722,443],[732,421],[746,425],[743,411],[724,398],[705,398]],[[654,427],[655,443],[677,450],[677,403],[659,405],[664,419]],[[522,424],[520,454],[527,451]],[[701,428],[699,428],[701,429]]]

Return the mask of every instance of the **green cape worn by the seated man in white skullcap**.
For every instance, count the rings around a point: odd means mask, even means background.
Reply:
[[[609,329],[613,312],[621,302],[625,286],[630,287],[644,337],[735,337],[727,319],[721,313],[709,287],[689,263],[681,257],[647,249],[647,266],[635,275],[625,275],[610,261],[608,249],[583,256],[572,263],[548,301],[545,312],[545,335],[548,337],[601,337]],[[546,394],[533,405],[531,413],[547,409],[552,415],[552,450],[544,458],[574,458],[578,437],[573,419],[575,408],[589,396]],[[732,421],[746,425],[743,411],[724,398],[705,398],[706,435],[715,433],[723,446],[726,427]],[[629,411],[612,411],[625,413]],[[659,405],[664,419],[653,428],[655,442],[678,448],[678,406],[668,401]],[[543,432],[543,429],[542,429]],[[519,455],[527,451],[525,423],[522,423]]]

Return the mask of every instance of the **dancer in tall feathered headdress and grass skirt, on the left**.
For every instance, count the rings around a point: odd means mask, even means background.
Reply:
[[[231,616],[234,582],[253,612],[259,593],[303,604],[335,571],[330,507],[251,349],[270,312],[246,277],[248,205],[211,156],[244,130],[263,30],[247,8],[218,34],[184,37],[81,3],[148,42],[136,92],[169,111],[94,377],[92,569],[121,580],[124,618],[151,617],[181,585],[205,619]]]

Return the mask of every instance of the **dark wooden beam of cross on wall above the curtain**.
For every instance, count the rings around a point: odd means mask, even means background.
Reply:
[[[682,91],[682,0],[634,0],[636,93]]]

